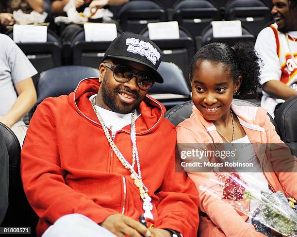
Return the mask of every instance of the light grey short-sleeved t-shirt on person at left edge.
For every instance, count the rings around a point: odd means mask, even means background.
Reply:
[[[7,35],[0,34],[0,118],[16,102],[14,84],[37,74],[26,55]]]

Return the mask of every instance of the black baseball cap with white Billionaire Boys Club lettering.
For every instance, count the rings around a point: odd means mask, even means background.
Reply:
[[[150,74],[157,83],[163,83],[163,78],[157,71],[161,63],[161,53],[159,47],[147,37],[124,32],[111,42],[102,61],[105,58],[115,58],[142,64],[151,69]]]

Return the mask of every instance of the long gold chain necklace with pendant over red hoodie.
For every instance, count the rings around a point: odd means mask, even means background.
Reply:
[[[139,189],[139,194],[141,199],[143,200],[143,209],[145,210],[144,217],[145,218],[150,218],[154,219],[153,215],[150,210],[152,210],[152,204],[151,204],[151,198],[148,196],[148,188],[144,185],[141,177],[141,170],[140,170],[140,163],[139,163],[139,156],[138,156],[138,151],[136,147],[136,128],[135,128],[135,111],[133,111],[131,115],[131,141],[132,141],[132,165],[125,159],[125,157],[122,155],[122,153],[118,150],[116,147],[111,135],[109,134],[108,127],[104,123],[102,117],[100,116],[99,112],[97,111],[95,107],[95,98],[94,97],[91,100],[94,112],[99,119],[99,122],[102,125],[104,134],[112,147],[113,151],[115,152],[115,155],[119,159],[119,161],[122,163],[122,165],[128,169],[131,172],[130,177],[134,180],[134,185],[138,187]],[[135,164],[135,157],[136,157],[136,164],[137,164],[137,170],[138,174],[134,170],[134,164]]]

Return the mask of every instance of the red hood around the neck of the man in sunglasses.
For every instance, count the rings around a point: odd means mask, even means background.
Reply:
[[[85,119],[101,126],[89,101],[90,96],[98,93],[100,84],[98,77],[83,79],[74,92],[69,94],[68,102]],[[164,119],[166,110],[163,104],[147,95],[139,104],[139,111],[141,116],[135,122],[138,135],[153,132]],[[130,133],[130,125],[120,131]]]

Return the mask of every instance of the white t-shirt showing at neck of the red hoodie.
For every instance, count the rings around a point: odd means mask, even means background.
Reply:
[[[91,101],[96,95],[90,96],[89,100]],[[105,125],[111,128],[112,133],[115,134],[118,130],[122,129],[123,127],[131,124],[131,116],[130,114],[119,114],[113,111],[103,109],[98,105],[95,105],[96,110],[100,114],[101,118],[103,119]],[[140,116],[139,111],[136,109],[136,119]]]

